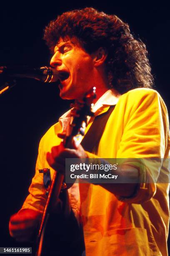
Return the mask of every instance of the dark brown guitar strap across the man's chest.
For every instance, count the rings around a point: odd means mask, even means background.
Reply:
[[[94,153],[94,150],[98,148],[107,120],[109,119],[114,108],[115,105],[112,105],[105,113],[95,117],[95,120],[81,142],[81,145],[85,151]]]

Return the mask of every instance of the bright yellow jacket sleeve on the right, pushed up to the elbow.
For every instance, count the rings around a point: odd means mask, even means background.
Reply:
[[[117,196],[117,199],[142,203],[155,195],[156,182],[158,179],[163,182],[160,180],[162,172],[166,172],[167,177],[169,174],[168,162],[163,163],[169,153],[168,113],[162,98],[154,90],[130,91],[122,95],[117,104],[122,102],[125,111],[117,159],[124,159],[126,164],[138,169],[139,184],[133,196]],[[88,156],[95,158],[92,154]]]

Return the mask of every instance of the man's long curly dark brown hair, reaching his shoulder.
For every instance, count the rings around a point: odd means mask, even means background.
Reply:
[[[59,38],[74,37],[89,54],[99,47],[107,49],[108,87],[120,93],[152,87],[153,76],[145,44],[136,40],[128,24],[116,15],[107,15],[94,8],[72,10],[59,15],[45,28],[44,39],[51,51]]]

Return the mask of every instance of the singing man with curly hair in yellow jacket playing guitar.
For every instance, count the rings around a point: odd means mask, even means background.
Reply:
[[[73,148],[62,146],[70,111],[42,137],[30,194],[22,209],[10,218],[10,234],[17,241],[32,238],[45,207],[47,195],[40,169],[49,168],[52,177],[55,171],[65,173],[66,158],[169,157],[167,109],[158,92],[151,89],[153,77],[145,45],[133,37],[128,24],[116,15],[84,8],[51,21],[44,39],[53,53],[50,65],[59,72],[62,99],[82,99],[96,87],[95,114],[88,126],[114,107],[91,151],[80,141],[75,141]],[[66,190],[67,202],[63,202],[70,206],[71,225],[61,238],[64,248],[56,241],[56,255],[168,255],[169,185],[156,182],[160,170],[168,176],[168,169],[163,161],[156,172],[153,169],[127,161],[118,175],[125,179],[130,175],[141,182],[72,184]],[[72,239],[75,225],[82,236]],[[61,227],[57,232],[60,237]]]

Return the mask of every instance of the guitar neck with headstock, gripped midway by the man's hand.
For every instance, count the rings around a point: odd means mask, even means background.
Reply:
[[[70,123],[70,126],[68,127],[68,130],[70,130],[70,134],[69,136],[66,136],[63,140],[63,144],[65,147],[72,148],[72,140],[74,136],[77,134],[82,134],[82,124],[83,122],[86,124],[87,115],[93,115],[93,113],[91,112],[91,104],[94,98],[95,87],[93,87],[89,92],[87,92],[83,100],[75,102],[75,108],[72,109],[73,120],[72,123]],[[54,172],[52,183],[48,192],[47,202],[42,215],[40,229],[38,232],[37,244],[39,244],[39,247],[36,254],[37,256],[41,255],[45,226],[49,214],[57,208],[56,206],[59,202],[59,195],[62,189],[63,181],[64,175],[58,172]]]

